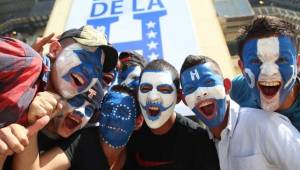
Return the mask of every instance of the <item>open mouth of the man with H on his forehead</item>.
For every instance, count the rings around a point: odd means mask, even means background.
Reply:
[[[217,104],[214,99],[202,100],[196,104],[196,109],[207,119],[212,119],[215,116],[216,107]]]

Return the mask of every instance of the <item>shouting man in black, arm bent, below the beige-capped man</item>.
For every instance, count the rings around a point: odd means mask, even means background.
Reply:
[[[99,112],[102,97],[98,81],[87,92],[64,102],[60,116],[53,117],[38,135],[30,138],[24,152],[15,155],[13,168],[101,169],[98,127],[89,120]]]

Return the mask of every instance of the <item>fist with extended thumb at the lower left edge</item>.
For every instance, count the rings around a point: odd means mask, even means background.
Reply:
[[[49,122],[49,116],[43,116],[33,125],[25,128],[19,124],[10,124],[0,129],[0,154],[20,153],[29,144],[29,137],[37,134]]]

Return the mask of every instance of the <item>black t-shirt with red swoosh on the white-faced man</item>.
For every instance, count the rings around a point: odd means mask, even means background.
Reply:
[[[127,170],[215,170],[219,161],[207,131],[177,114],[164,135],[153,134],[144,123],[127,145]]]

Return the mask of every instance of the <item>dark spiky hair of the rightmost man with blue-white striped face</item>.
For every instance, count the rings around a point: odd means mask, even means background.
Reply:
[[[280,35],[289,36],[298,52],[299,40],[295,25],[274,16],[255,17],[250,25],[243,27],[239,31],[239,36],[237,37],[238,53],[241,60],[243,59],[243,47],[248,40]]]

